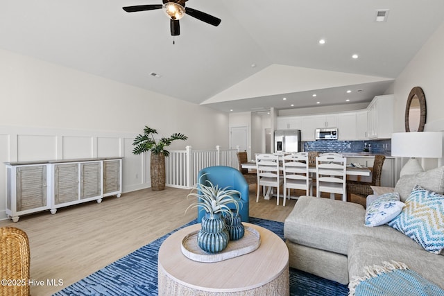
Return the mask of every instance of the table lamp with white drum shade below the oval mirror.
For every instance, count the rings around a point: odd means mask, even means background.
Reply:
[[[395,132],[391,135],[391,155],[410,157],[401,169],[400,176],[421,173],[424,170],[415,157],[443,157],[443,133]]]

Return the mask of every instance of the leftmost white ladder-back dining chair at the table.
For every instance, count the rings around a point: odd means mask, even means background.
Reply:
[[[280,176],[279,168],[279,156],[272,154],[258,154],[256,155],[256,170],[257,170],[257,195],[256,202],[259,202],[259,192],[262,186],[262,194],[265,197],[265,187],[270,189],[276,188],[277,195],[276,204],[279,205],[279,189],[283,184],[282,177]],[[271,195],[271,194],[269,194]]]

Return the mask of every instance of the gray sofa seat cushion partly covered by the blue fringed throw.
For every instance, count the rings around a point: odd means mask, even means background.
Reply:
[[[348,248],[348,272],[350,281],[364,277],[365,266],[380,265],[384,261],[405,263],[425,279],[444,288],[444,256],[406,245],[393,245],[377,238],[353,236]]]

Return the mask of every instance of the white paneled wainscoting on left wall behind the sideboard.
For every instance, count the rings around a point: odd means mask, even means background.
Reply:
[[[149,159],[133,155],[137,134],[0,125],[0,220],[6,219],[5,162],[123,157],[123,193],[151,186]],[[146,164],[148,162],[148,164]]]

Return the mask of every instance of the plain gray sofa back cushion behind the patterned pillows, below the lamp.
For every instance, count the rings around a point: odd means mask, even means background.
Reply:
[[[404,202],[409,197],[411,191],[416,186],[422,186],[425,189],[444,193],[444,166],[434,168],[424,173],[416,175],[403,175],[395,185],[395,192],[400,193],[401,201]]]

